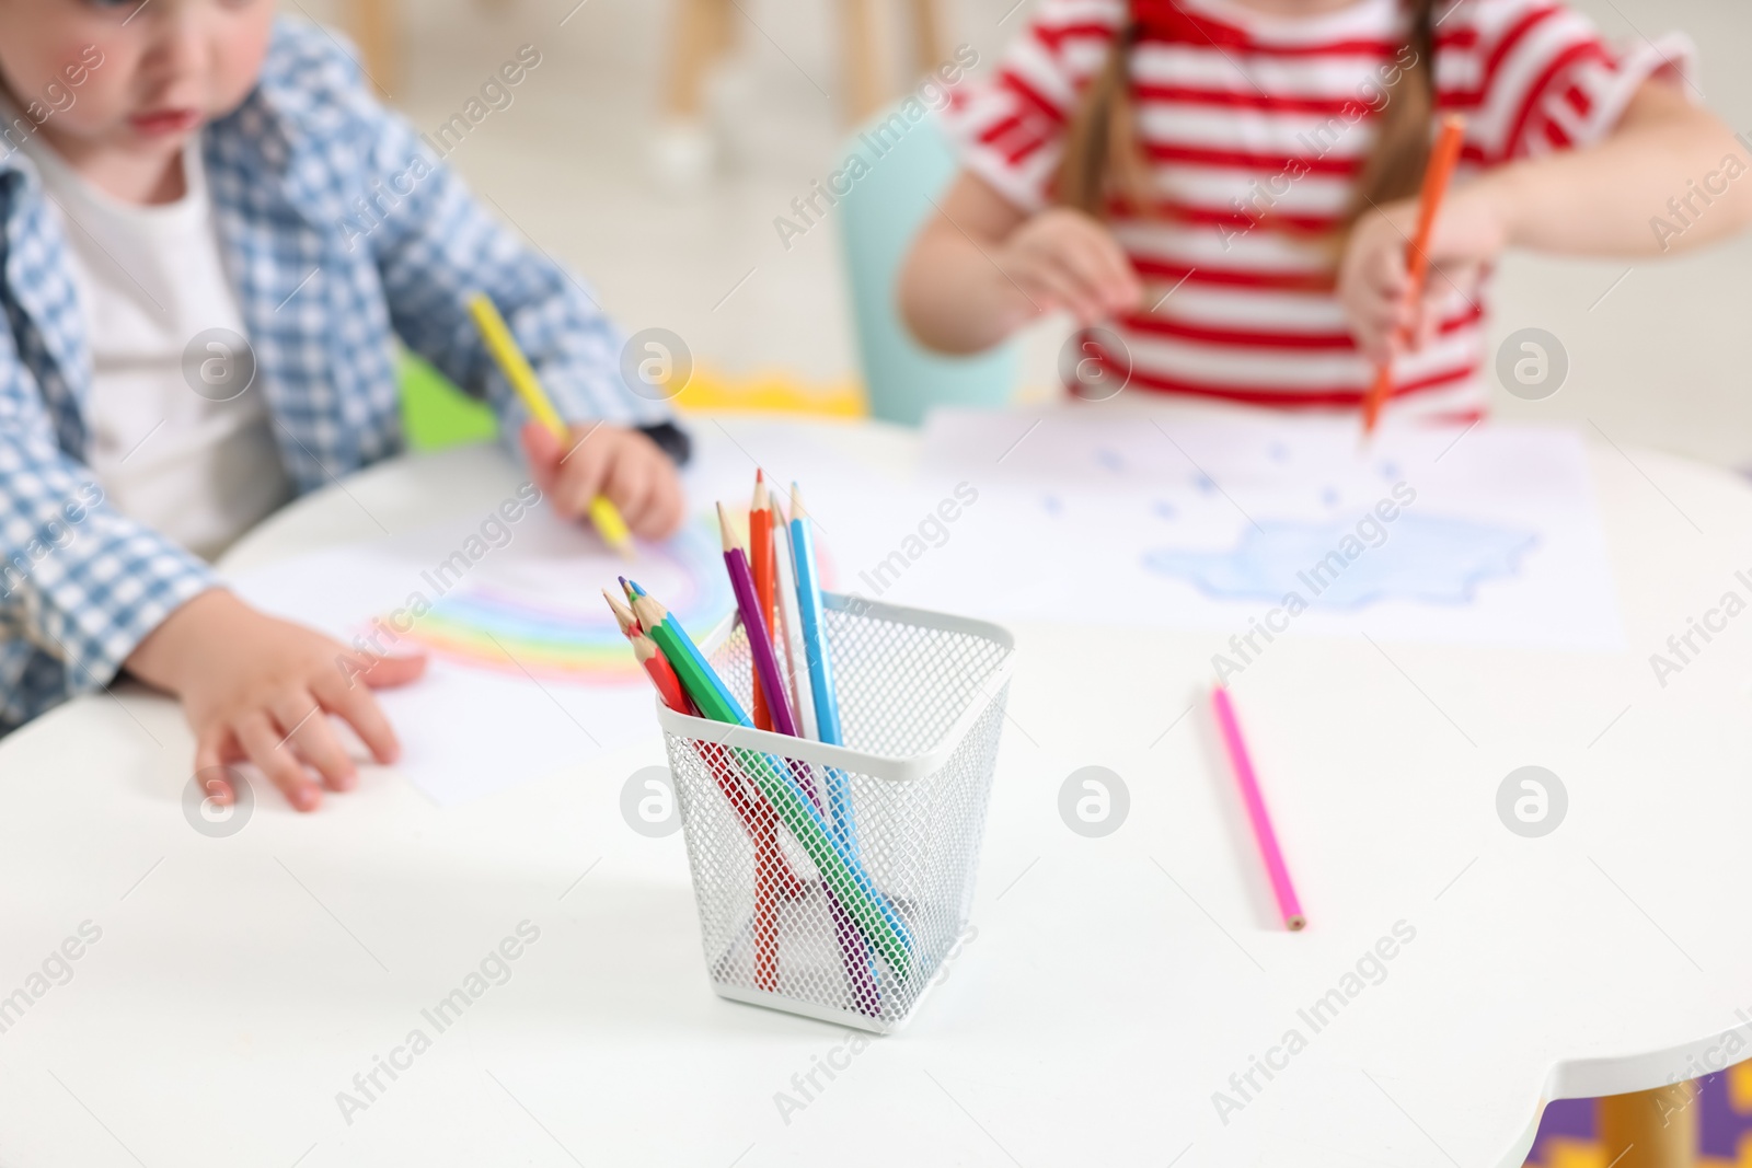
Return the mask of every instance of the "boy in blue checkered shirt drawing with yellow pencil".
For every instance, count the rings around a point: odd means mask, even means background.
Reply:
[[[310,811],[357,783],[331,716],[394,760],[371,686],[424,660],[258,613],[207,557],[399,450],[394,338],[517,427],[466,313],[487,292],[575,426],[522,431],[550,504],[603,492],[661,538],[683,501],[594,299],[273,7],[0,0],[0,734],[126,669],[182,700],[212,799],[249,760]]]

